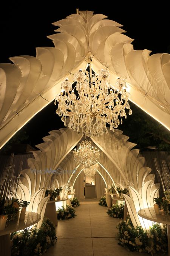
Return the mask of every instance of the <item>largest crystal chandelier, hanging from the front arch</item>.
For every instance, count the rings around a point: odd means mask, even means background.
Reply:
[[[113,132],[120,122],[122,124],[122,117],[127,117],[125,108],[132,114],[125,80],[118,78],[113,88],[109,77],[110,73],[103,69],[92,74],[90,66],[90,72],[79,70],[74,75],[73,84],[68,79],[62,82],[61,93],[54,104],[58,102],[56,113],[62,116],[65,126],[69,117],[70,129],[78,133],[82,129],[87,137],[99,136],[108,132],[106,124]]]

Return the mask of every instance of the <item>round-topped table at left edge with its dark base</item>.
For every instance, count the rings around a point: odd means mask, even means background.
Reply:
[[[19,215],[20,218],[20,215]],[[28,228],[37,223],[41,216],[36,212],[26,212],[24,220],[13,220],[11,223],[2,231],[0,231],[0,256],[10,256],[10,234],[25,228]]]

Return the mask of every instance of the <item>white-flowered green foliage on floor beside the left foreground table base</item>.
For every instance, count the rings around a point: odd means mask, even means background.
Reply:
[[[56,227],[48,218],[44,218],[40,229],[23,229],[11,234],[11,255],[40,256],[54,245],[56,239]]]

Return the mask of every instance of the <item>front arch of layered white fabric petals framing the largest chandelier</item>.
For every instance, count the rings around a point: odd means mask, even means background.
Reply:
[[[117,77],[130,85],[131,101],[170,130],[170,55],[150,56],[133,50],[133,39],[102,14],[82,11],[55,22],[54,47],[38,47],[37,56],[17,56],[0,64],[0,147],[36,113],[53,101],[60,83],[86,68],[108,67],[111,84]],[[45,99],[48,101],[46,101]]]

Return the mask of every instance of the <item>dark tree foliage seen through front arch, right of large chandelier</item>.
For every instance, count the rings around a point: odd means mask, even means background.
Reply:
[[[146,151],[150,150],[148,146],[156,146],[158,151],[170,151],[170,132],[132,102],[130,107],[133,114],[123,119],[118,129],[123,130],[138,149]]]

